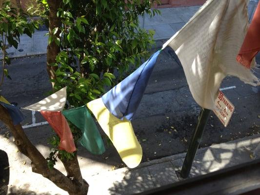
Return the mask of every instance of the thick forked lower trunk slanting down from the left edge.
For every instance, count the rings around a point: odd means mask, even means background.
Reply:
[[[47,160],[40,154],[23,132],[20,124],[14,125],[8,111],[0,105],[0,120],[9,128],[15,138],[15,144],[19,151],[31,160],[34,173],[38,173],[51,180],[70,195],[86,195],[88,184],[82,179],[77,157],[64,163],[68,176],[64,176],[59,170],[49,169]],[[75,163],[75,165],[73,165]],[[79,178],[79,180],[78,180]]]

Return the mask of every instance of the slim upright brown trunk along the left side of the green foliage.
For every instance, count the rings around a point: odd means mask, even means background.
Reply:
[[[60,26],[61,21],[60,18],[57,17],[58,8],[62,0],[47,0],[49,5],[49,36],[59,37],[60,35]],[[58,32],[53,35],[52,30],[56,27],[59,27]],[[56,80],[55,71],[57,70],[57,66],[50,66],[51,63],[56,62],[56,56],[60,52],[60,46],[57,45],[54,41],[52,41],[47,46],[47,72],[50,79]],[[52,82],[52,86],[54,86],[55,82]]]

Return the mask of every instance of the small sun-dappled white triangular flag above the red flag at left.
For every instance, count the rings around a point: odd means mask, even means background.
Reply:
[[[27,106],[23,109],[27,110],[34,110],[34,111],[61,111],[63,110],[66,98],[67,98],[67,87],[64,87],[57,91],[56,93],[48,96],[47,98],[44,98],[40,100],[37,103],[34,103],[30,106]]]

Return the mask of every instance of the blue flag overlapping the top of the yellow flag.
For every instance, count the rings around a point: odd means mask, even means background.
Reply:
[[[160,51],[102,96],[106,108],[120,119],[132,120],[140,104]]]

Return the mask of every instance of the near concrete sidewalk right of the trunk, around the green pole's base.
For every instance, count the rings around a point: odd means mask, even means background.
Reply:
[[[256,158],[253,151],[259,143],[260,135],[255,135],[201,148],[190,177],[251,161]],[[88,195],[132,195],[178,182],[183,180],[176,172],[180,171],[184,157],[185,153],[182,153],[142,163],[136,169],[121,168],[86,177],[90,184]]]

